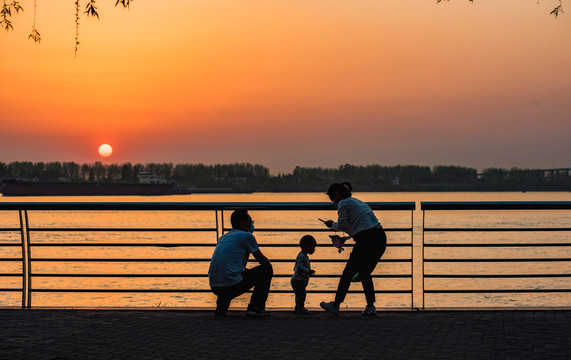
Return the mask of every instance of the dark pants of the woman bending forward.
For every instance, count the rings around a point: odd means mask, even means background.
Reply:
[[[375,287],[371,273],[375,270],[387,248],[387,236],[382,228],[373,228],[363,230],[353,238],[355,246],[345,265],[341,279],[339,279],[335,303],[341,304],[345,300],[353,276],[359,273],[367,305],[373,305],[375,303]]]

